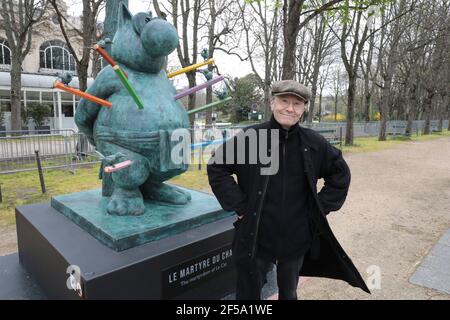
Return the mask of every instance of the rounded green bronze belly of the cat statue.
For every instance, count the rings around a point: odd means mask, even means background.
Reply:
[[[127,70],[129,80],[144,102],[139,109],[123,87],[108,100],[112,108],[102,108],[94,127],[94,139],[101,153],[114,153],[119,146],[149,160],[151,174],[167,180],[186,171],[186,164],[172,161],[170,151],[175,142],[174,130],[188,129],[189,117],[173,96],[176,91],[164,72],[134,73]]]

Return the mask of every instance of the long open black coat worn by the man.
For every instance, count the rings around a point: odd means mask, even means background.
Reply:
[[[269,129],[270,122],[247,127]],[[300,127],[299,148],[303,154],[303,167],[309,186],[309,217],[315,226],[315,240],[305,256],[300,275],[340,279],[370,293],[351,259],[341,247],[328,224],[326,215],[341,208],[350,185],[350,170],[340,150],[330,145],[314,130]],[[236,141],[236,137],[234,137]],[[226,143],[216,150],[227,150]],[[245,150],[248,152],[249,145]],[[226,151],[224,151],[226,153]],[[260,174],[260,164],[216,164],[214,157],[207,166],[208,179],[214,195],[224,210],[243,214],[234,223],[233,257],[241,266],[249,265],[256,254],[257,236],[262,206],[270,175]],[[235,174],[237,183],[232,177]],[[318,193],[317,180],[325,180]]]

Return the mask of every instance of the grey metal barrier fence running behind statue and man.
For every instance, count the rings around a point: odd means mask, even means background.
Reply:
[[[319,131],[336,144],[345,139],[345,122],[320,122],[301,124]],[[412,134],[422,132],[425,121],[414,121]],[[448,120],[443,127],[448,127]],[[191,166],[201,169],[211,152],[224,140],[239,132],[243,126],[203,126],[190,129]],[[438,121],[431,121],[431,131],[436,131]],[[376,136],[380,130],[379,122],[356,122],[354,136]],[[405,134],[406,121],[388,121],[387,134]],[[334,131],[334,132],[333,132]],[[322,133],[323,132],[323,133]],[[331,132],[331,134],[330,134]],[[36,170],[35,151],[39,151],[43,169],[66,168],[75,171],[76,167],[99,163],[100,156],[87,138],[74,130],[30,130],[0,131],[0,173],[14,173]]]

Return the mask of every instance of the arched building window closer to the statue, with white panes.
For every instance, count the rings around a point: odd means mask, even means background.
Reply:
[[[75,60],[60,40],[46,41],[39,50],[40,67],[50,70],[75,71]]]

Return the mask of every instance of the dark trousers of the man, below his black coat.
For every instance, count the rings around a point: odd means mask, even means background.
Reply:
[[[267,273],[274,263],[256,257],[249,266],[236,266],[237,300],[260,300],[261,290],[266,281]],[[303,256],[288,261],[277,261],[277,284],[279,300],[297,300],[297,284]]]

